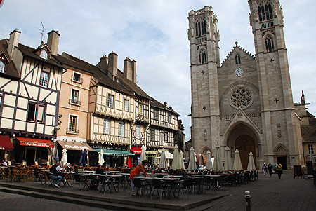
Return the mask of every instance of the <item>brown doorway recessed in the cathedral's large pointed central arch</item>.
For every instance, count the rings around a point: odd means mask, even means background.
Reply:
[[[254,154],[254,161],[256,164],[256,145],[253,137],[250,135],[239,135],[235,141],[235,149],[238,149],[239,151],[242,167],[244,169],[247,168],[250,152]]]

